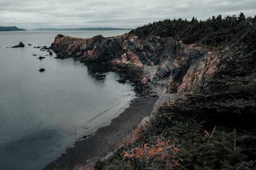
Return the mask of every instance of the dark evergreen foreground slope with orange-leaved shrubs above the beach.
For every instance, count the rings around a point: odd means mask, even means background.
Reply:
[[[255,17],[241,14],[236,20],[247,31],[238,36],[232,25],[227,27],[231,38],[208,85],[161,104],[133,141],[98,161],[95,169],[256,169],[256,38],[250,24]]]

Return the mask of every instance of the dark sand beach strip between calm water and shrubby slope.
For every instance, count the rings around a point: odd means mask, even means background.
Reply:
[[[109,126],[99,128],[89,138],[77,141],[73,148],[66,150],[57,160],[44,169],[74,169],[84,167],[96,158],[104,157],[114,151],[125,137],[132,133],[143,117],[148,116],[158,98],[138,98],[118,117],[112,119]]]

